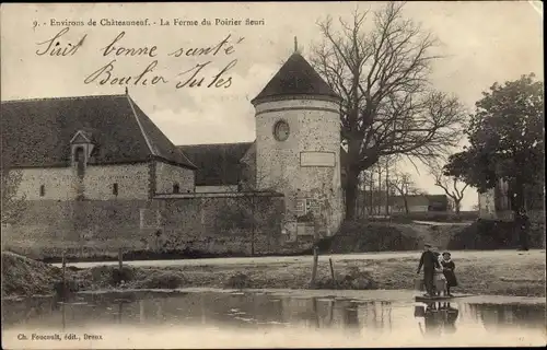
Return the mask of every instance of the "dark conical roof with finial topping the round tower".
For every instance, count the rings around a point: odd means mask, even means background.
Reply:
[[[294,52],[266,88],[251,102],[290,95],[314,95],[340,98],[302,55]]]

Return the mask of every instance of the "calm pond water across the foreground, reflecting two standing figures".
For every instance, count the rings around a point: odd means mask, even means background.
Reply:
[[[2,301],[2,348],[545,346],[545,302],[186,291]],[[380,296],[379,296],[380,295]],[[382,296],[384,295],[384,296]]]

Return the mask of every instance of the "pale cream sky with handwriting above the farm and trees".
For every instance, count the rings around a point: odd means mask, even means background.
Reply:
[[[307,57],[306,49],[321,40],[318,20],[328,14],[348,19],[356,9],[374,11],[384,4],[2,4],[1,98],[121,94],[127,86],[133,101],[175,144],[253,141],[254,107],[249,101],[292,54],[294,36],[302,55]],[[515,80],[529,72],[543,77],[540,2],[417,1],[405,5],[404,16],[421,23],[424,31],[438,37],[438,49],[444,58],[434,63],[431,82],[437,90],[456,95],[469,112],[481,92],[494,82]],[[101,25],[102,20],[146,19],[148,25],[141,26]],[[203,20],[211,24],[201,25]],[[246,20],[264,24],[245,25]],[[83,25],[72,23],[58,38],[60,46],[53,49],[68,44],[78,49],[71,52],[68,47],[67,56],[50,56],[49,40],[67,26],[63,21]],[[170,25],[161,25],[167,21]],[[191,25],[194,21],[199,25]],[[242,22],[234,25],[233,21]],[[113,44],[115,49],[105,56],[105,49],[121,32],[123,36]],[[226,37],[214,56],[177,57],[179,49],[187,52],[217,46]],[[152,52],[152,57],[115,56],[119,48],[141,48]],[[210,63],[197,71],[197,65],[206,62]],[[110,84],[114,78],[140,75],[149,65],[152,70],[138,84]],[[106,72],[110,78],[101,84]],[[193,74],[198,80],[203,78],[201,86],[189,86],[187,80]],[[151,84],[154,75],[161,78]],[[144,79],[147,85],[142,84]],[[409,162],[401,162],[399,168],[411,173],[418,187],[442,194],[424,167],[418,166],[417,171]],[[476,190],[467,189],[463,209],[469,210],[476,202]]]

